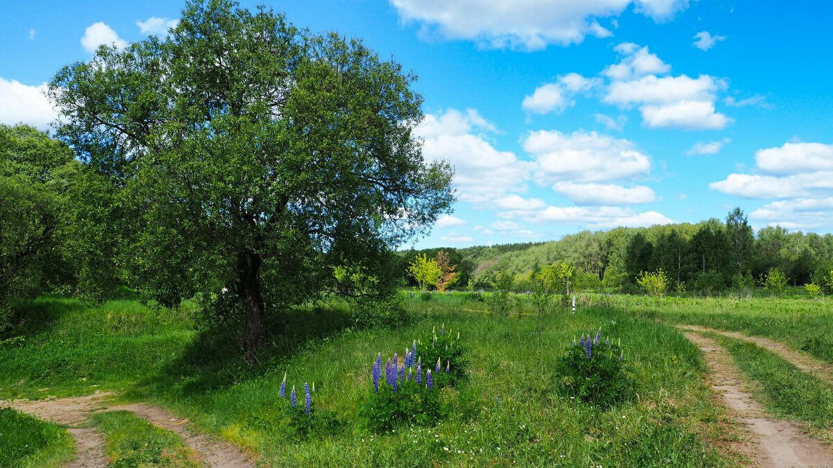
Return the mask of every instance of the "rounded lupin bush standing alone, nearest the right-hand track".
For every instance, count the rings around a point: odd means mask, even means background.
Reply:
[[[621,346],[610,338],[581,336],[573,341],[556,365],[556,388],[587,404],[607,408],[633,396]]]

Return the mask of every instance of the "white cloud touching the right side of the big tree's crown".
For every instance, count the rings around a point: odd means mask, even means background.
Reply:
[[[486,203],[522,188],[530,168],[512,152],[498,151],[478,130],[493,132],[495,127],[476,111],[450,110],[426,115],[414,133],[424,139],[426,160],[455,167],[453,183],[461,201]]]

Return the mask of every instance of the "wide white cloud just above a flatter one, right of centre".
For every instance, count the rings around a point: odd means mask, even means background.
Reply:
[[[523,142],[536,160],[536,178],[551,182],[609,182],[644,176],[648,157],[633,143],[596,132],[531,132]]]

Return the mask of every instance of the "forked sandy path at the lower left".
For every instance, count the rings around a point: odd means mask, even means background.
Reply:
[[[171,412],[158,406],[143,403],[112,405],[111,393],[96,392],[89,396],[55,398],[50,400],[0,401],[0,406],[12,406],[17,411],[37,416],[46,421],[67,426],[77,449],[77,456],[69,468],[103,468],[107,466],[104,455],[104,436],[95,427],[87,427],[90,416],[101,411],[131,411],[153,425],[182,436],[188,446],[197,451],[207,466],[250,468],[253,461],[236,447],[217,441],[205,434],[194,435],[187,427],[187,419],[177,419]]]

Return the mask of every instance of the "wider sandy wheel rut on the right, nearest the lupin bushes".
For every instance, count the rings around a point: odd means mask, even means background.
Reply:
[[[807,436],[790,421],[772,419],[761,406],[743,391],[743,377],[725,348],[696,333],[685,333],[706,354],[711,371],[712,388],[723,402],[735,411],[738,421],[746,425],[756,446],[745,444],[741,450],[751,456],[756,466],[833,467],[833,452],[821,442]]]

